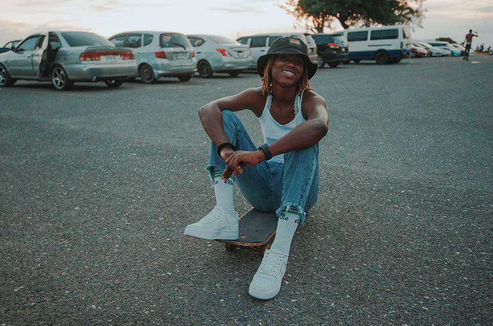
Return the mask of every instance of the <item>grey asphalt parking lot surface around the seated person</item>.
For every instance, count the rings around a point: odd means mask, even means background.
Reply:
[[[214,204],[197,109],[256,73],[0,89],[0,325],[493,324],[492,77],[479,55],[319,69],[320,194],[268,301],[256,252],[183,235]]]

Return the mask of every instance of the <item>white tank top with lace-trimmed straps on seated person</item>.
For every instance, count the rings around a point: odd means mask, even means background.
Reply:
[[[260,126],[262,127],[262,134],[264,135],[264,142],[271,144],[284,136],[289,131],[293,130],[294,127],[298,126],[302,122],[306,121],[301,113],[301,100],[303,98],[303,93],[296,95],[294,99],[294,119],[285,125],[281,125],[279,122],[274,120],[271,115],[271,103],[272,95],[267,97],[265,101],[264,111],[258,120],[260,121]],[[273,162],[284,162],[284,154],[274,156],[270,161]]]

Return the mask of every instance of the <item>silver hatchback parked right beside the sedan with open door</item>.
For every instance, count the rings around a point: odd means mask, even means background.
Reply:
[[[109,38],[116,46],[134,50],[142,82],[151,84],[161,77],[187,81],[197,71],[197,59],[190,41],[183,33],[133,31]]]

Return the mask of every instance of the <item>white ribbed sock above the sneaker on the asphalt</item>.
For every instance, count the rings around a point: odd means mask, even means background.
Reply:
[[[278,220],[276,237],[271,249],[289,255],[291,240],[294,232],[298,228],[301,215],[294,210],[283,210]]]

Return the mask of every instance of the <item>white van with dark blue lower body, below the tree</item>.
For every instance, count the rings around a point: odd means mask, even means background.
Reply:
[[[349,43],[350,60],[375,60],[377,64],[394,64],[411,53],[411,31],[395,25],[344,30]]]

